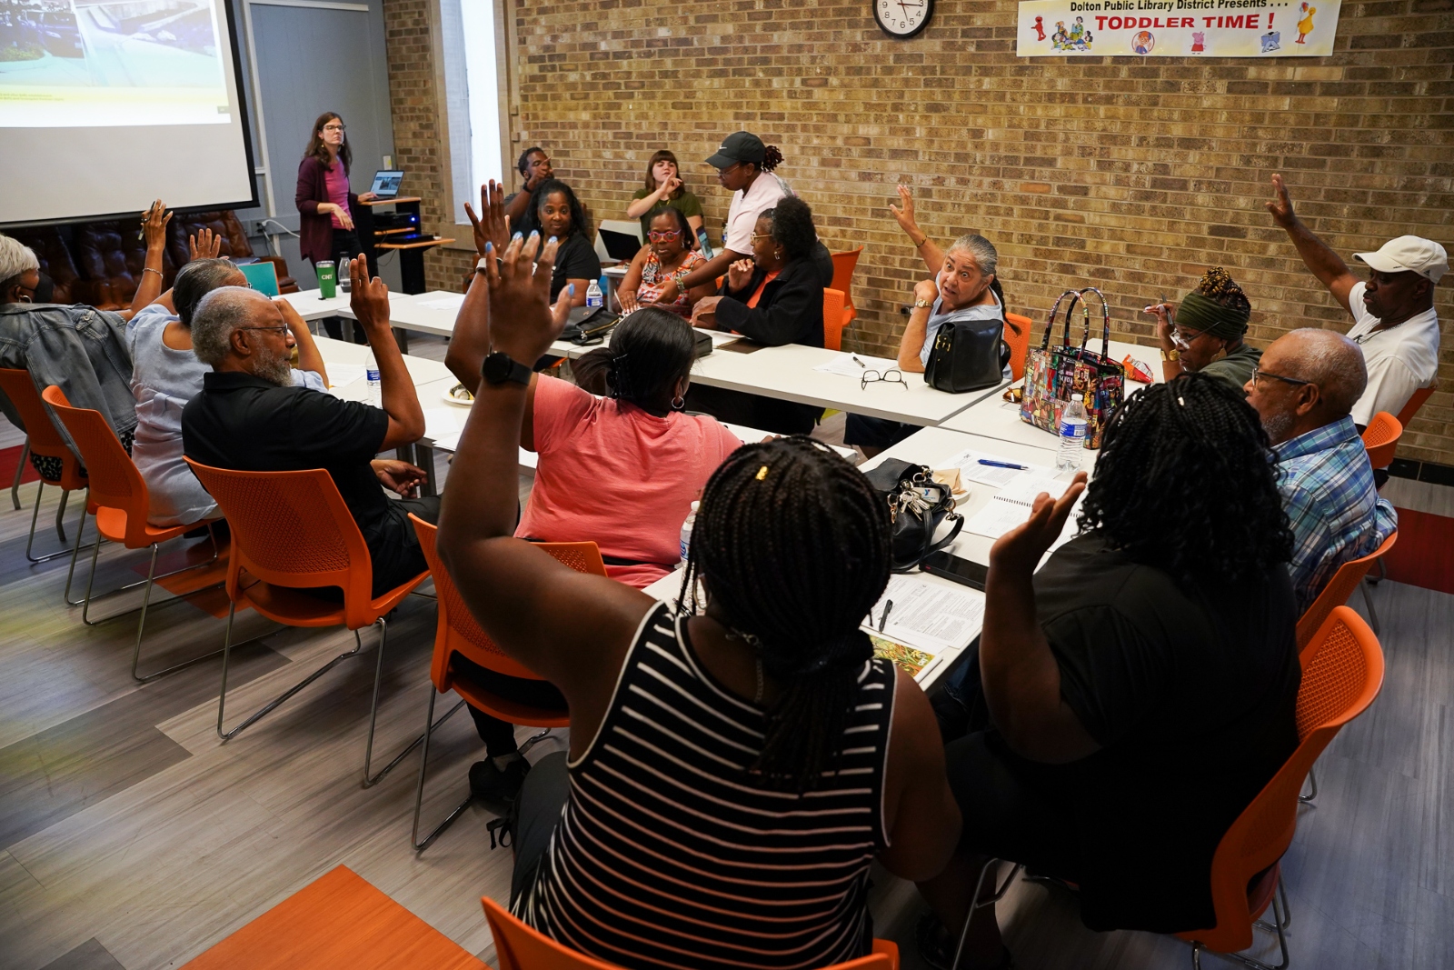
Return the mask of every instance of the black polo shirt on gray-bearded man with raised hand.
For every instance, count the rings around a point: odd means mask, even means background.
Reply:
[[[393,558],[395,532],[409,528],[369,465],[385,433],[388,414],[378,407],[237,371],[204,375],[202,393],[182,410],[182,449],[192,461],[238,471],[327,470],[375,572]]]

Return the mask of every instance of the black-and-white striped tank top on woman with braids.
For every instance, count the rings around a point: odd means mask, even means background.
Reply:
[[[743,782],[760,708],[696,660],[666,604],[641,622],[516,915],[625,967],[795,967],[869,951],[868,865],[887,846],[894,669],[864,663],[835,771],[797,794]]]

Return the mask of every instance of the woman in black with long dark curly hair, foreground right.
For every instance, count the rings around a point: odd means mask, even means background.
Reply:
[[[920,886],[932,966],[987,859],[1077,884],[1092,929],[1216,925],[1217,842],[1297,747],[1293,538],[1242,393],[1188,374],[1127,400],[1080,534],[1035,572],[1083,481],[990,550],[979,662],[947,685],[958,717],[938,705],[964,838]],[[1011,966],[993,910],[965,954]]]

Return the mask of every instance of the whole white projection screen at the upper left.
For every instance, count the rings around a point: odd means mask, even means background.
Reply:
[[[256,205],[227,0],[0,0],[0,224]]]

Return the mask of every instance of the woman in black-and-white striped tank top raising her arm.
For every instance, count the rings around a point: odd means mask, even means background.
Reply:
[[[528,368],[560,332],[554,243],[487,260],[490,342],[439,551],[505,653],[560,688],[570,750],[526,775],[512,907],[625,967],[826,967],[865,955],[869,864],[939,871],[958,838],[933,713],[859,631],[888,516],[806,438],[746,445],[707,483],[688,589],[704,614],[513,538]],[[457,329],[458,333],[458,329]]]

